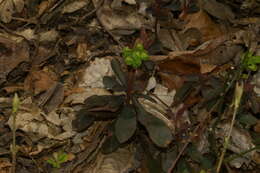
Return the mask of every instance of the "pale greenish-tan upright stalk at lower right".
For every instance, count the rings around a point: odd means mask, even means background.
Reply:
[[[231,124],[230,124],[228,135],[224,139],[224,144],[223,144],[224,148],[223,148],[223,151],[222,151],[222,153],[220,155],[219,162],[218,162],[217,168],[216,168],[216,172],[217,173],[219,173],[219,171],[220,171],[220,168],[221,168],[224,156],[225,156],[226,151],[227,151],[227,147],[229,145],[229,139],[231,137],[231,133],[232,133],[232,130],[233,130],[233,127],[234,127],[234,124],[235,124],[235,118],[236,118],[236,114],[237,114],[237,111],[238,111],[238,108],[239,108],[239,104],[240,104],[240,101],[241,101],[242,94],[243,94],[243,83],[241,83],[241,85],[236,83],[233,116],[232,116],[232,120],[231,120]]]

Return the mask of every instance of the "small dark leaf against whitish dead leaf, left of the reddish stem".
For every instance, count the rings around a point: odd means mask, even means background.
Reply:
[[[103,84],[105,88],[108,90],[112,90],[116,92],[121,92],[126,90],[126,87],[120,85],[120,83],[117,82],[115,77],[111,77],[111,76],[103,77]]]

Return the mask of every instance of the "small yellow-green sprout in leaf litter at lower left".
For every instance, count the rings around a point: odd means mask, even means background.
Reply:
[[[47,162],[54,168],[60,168],[61,164],[68,161],[68,154],[64,152],[55,152],[53,157],[49,158]]]

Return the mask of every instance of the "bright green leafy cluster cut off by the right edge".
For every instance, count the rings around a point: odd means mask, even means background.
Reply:
[[[258,64],[260,64],[260,56],[255,56],[249,51],[244,53],[243,65],[247,70],[257,71]]]

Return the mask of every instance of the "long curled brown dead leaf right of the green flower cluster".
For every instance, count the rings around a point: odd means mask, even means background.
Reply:
[[[179,75],[211,72],[217,65],[231,61],[243,51],[242,46],[230,44],[227,39],[223,36],[207,41],[195,50],[173,51],[167,56],[151,56],[150,59],[160,61],[162,72]]]

